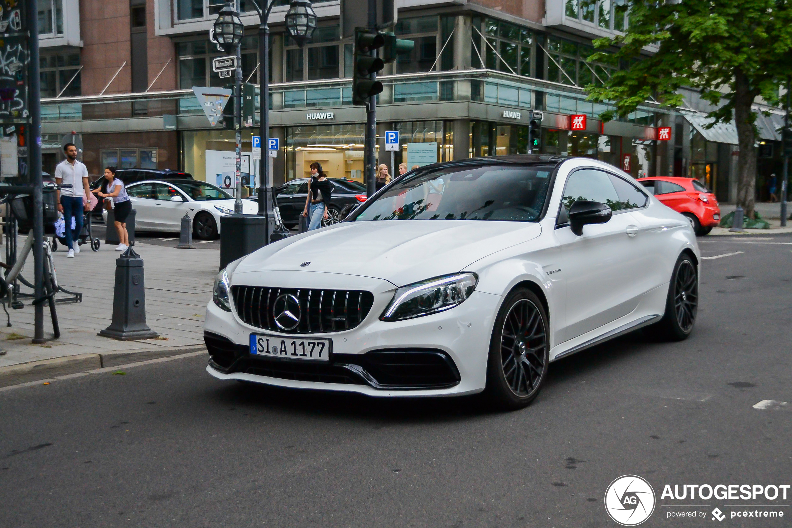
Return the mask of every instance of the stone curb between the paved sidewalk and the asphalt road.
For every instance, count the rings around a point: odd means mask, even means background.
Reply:
[[[191,347],[169,348],[166,350],[92,353],[40,359],[29,363],[0,367],[0,387],[39,382],[91,370],[112,369],[125,363],[137,363],[204,350],[206,350],[204,345],[193,345]]]

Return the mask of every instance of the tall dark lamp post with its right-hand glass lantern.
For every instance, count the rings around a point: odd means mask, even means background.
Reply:
[[[267,193],[271,192],[269,185],[269,26],[267,21],[275,0],[265,0],[265,9],[258,6],[256,0],[252,0],[253,7],[256,9],[259,18],[258,26],[258,56],[261,73],[261,93],[259,94],[259,109],[261,119],[259,120],[259,136],[261,137],[261,160],[259,160],[258,182],[258,215],[266,218],[265,222],[265,244],[269,243],[269,200]],[[286,28],[289,35],[299,47],[303,47],[311,39],[316,29],[316,13],[311,8],[308,0],[291,0],[290,7],[286,13]]]

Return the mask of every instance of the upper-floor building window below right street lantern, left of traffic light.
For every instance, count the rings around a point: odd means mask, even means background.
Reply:
[[[291,37],[286,39],[284,71],[286,81],[314,81],[341,77],[338,26],[316,28],[314,38],[305,47],[297,47]],[[329,44],[333,43],[333,44]]]

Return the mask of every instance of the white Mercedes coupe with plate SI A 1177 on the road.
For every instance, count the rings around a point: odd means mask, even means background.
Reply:
[[[651,325],[693,329],[685,217],[588,158],[428,165],[344,222],[219,273],[204,339],[223,380],[530,403],[555,359]]]

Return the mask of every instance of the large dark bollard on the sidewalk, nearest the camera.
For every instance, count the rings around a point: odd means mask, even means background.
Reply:
[[[143,259],[131,247],[116,259],[112,322],[109,327],[99,332],[99,335],[123,341],[159,337],[159,334],[146,324]]]

